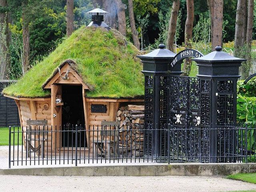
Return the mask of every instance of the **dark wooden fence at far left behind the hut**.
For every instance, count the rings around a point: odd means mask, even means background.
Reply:
[[[17,105],[12,98],[2,95],[2,90],[13,81],[0,81],[0,127],[20,126]]]

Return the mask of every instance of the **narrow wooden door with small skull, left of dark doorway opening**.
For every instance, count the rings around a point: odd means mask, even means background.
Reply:
[[[52,148],[60,148],[60,132],[62,119],[62,86],[52,85]]]

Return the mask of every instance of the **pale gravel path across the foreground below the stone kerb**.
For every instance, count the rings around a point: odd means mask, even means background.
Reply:
[[[220,192],[256,185],[207,176],[17,176],[0,175],[0,191],[15,192]]]

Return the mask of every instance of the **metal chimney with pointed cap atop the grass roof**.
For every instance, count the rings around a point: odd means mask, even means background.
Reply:
[[[108,12],[96,8],[94,10],[88,11],[88,13],[92,16],[92,22],[87,26],[95,26],[95,27],[105,27],[110,28],[105,22],[104,22],[104,15]]]

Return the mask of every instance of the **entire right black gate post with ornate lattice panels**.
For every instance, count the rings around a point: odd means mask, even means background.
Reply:
[[[220,138],[225,124],[236,122],[236,85],[239,67],[246,59],[236,58],[223,52],[220,46],[206,56],[192,59],[197,64],[200,79],[201,125],[209,137],[209,161],[222,162],[224,146]],[[230,141],[231,142],[231,141]],[[224,150],[226,151],[226,150]],[[218,156],[222,156],[223,158]]]

